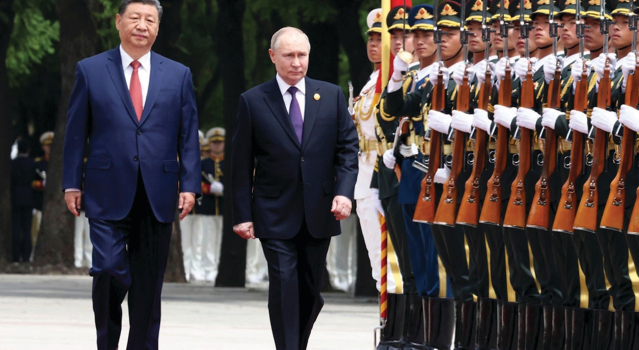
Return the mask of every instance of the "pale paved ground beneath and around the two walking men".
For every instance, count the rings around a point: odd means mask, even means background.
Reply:
[[[376,300],[324,293],[309,350],[373,348]],[[266,290],[165,284],[160,349],[275,349]],[[128,315],[123,304],[126,348]],[[0,275],[0,350],[95,349],[91,279]]]

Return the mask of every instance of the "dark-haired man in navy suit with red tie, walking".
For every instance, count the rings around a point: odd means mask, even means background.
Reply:
[[[100,350],[118,347],[127,292],[127,349],[158,348],[176,206],[183,219],[201,191],[190,70],[151,51],[161,17],[157,0],[123,0],[116,15],[119,47],[75,69],[63,189],[69,210],[79,215],[84,205],[89,218]]]

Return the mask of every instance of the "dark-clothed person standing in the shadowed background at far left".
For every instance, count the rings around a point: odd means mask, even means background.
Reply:
[[[31,256],[31,215],[36,179],[35,162],[29,157],[29,143],[18,140],[18,156],[11,161],[12,261],[27,263]]]

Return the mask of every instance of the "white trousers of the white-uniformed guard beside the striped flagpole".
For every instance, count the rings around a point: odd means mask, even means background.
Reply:
[[[366,250],[368,251],[368,258],[371,260],[371,268],[373,268],[373,279],[375,279],[375,286],[379,291],[381,289],[381,229],[380,219],[378,212],[375,209],[374,201],[372,197],[361,198],[357,200],[357,216],[360,220],[360,226],[362,227],[362,235],[364,235],[364,244],[366,244]],[[390,244],[390,237],[388,241]],[[389,250],[387,250],[389,251]],[[387,259],[387,292],[396,293],[395,275],[399,275],[399,271],[392,270],[391,257],[392,254],[388,252]],[[401,275],[399,280],[401,282]]]

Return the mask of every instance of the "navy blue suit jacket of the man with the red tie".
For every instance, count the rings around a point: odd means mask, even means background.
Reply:
[[[160,222],[173,222],[178,191],[201,193],[199,155],[189,68],[151,52],[138,122],[119,48],[78,62],[66,120],[63,189],[84,190],[87,217],[123,219],[141,171],[153,214]]]

